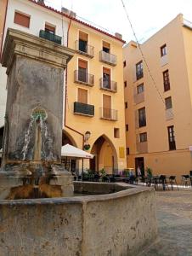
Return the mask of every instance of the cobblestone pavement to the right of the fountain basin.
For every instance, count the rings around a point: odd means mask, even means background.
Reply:
[[[139,256],[192,256],[192,190],[156,192],[159,238]]]

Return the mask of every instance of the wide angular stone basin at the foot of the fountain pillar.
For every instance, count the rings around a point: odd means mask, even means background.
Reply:
[[[81,182],[74,188],[82,194],[119,192],[1,200],[1,255],[127,256],[155,240],[154,189]]]

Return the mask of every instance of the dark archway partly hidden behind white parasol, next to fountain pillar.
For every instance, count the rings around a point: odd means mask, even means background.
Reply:
[[[65,146],[66,144],[70,144],[71,146],[76,147],[76,142],[74,141],[73,137],[71,137],[71,135],[64,130],[62,133],[62,146]],[[62,157],[61,161],[65,165],[65,169],[68,170],[69,172],[78,172],[79,161],[76,160],[75,158],[69,159],[66,157]]]

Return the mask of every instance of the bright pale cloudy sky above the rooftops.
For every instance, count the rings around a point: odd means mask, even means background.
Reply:
[[[60,9],[72,9],[76,15],[104,27],[111,33],[119,32],[127,42],[135,40],[121,0],[45,0]],[[182,13],[192,22],[192,0],[124,0],[138,42],[143,43],[169,21]]]

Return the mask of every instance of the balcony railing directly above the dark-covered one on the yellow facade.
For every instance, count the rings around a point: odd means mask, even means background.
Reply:
[[[74,81],[78,84],[86,84],[89,86],[93,86],[94,85],[94,76],[93,76],[93,74],[86,73],[82,70],[75,70]]]

